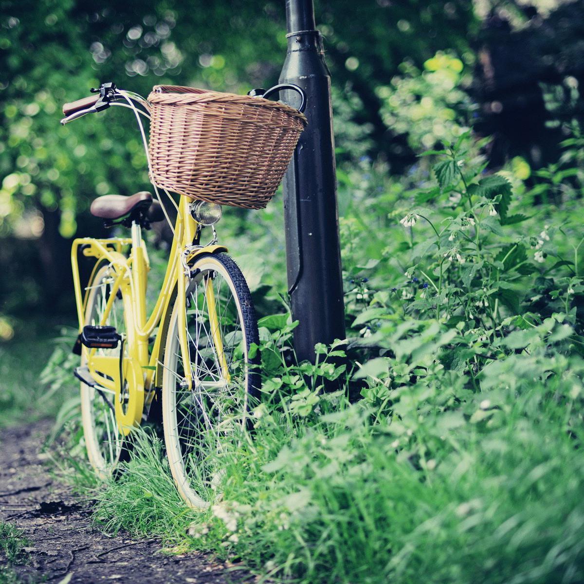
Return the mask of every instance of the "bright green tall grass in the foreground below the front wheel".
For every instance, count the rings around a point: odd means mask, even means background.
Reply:
[[[493,408],[482,396],[477,411],[492,414],[474,422],[430,395],[409,436],[338,396],[310,424],[264,408],[253,439],[225,443],[223,495],[207,512],[183,506],[161,444],[142,433],[95,517],[307,584],[582,582],[575,383],[526,380]]]

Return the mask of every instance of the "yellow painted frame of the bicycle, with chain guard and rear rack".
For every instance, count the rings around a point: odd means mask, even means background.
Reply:
[[[148,317],[145,299],[150,260],[145,243],[142,240],[140,225],[137,223],[132,225],[131,238],[78,238],[72,244],[71,265],[79,332],[86,324],[85,310],[89,294],[89,288],[85,289],[85,294],[81,288],[78,264],[79,251],[81,250],[86,257],[96,258],[96,265],[93,268],[94,273],[101,260],[109,262],[112,291],[106,303],[102,322],[98,324],[105,324],[117,291],[121,290],[124,321],[126,323],[124,344],[127,347],[127,356],[123,357],[123,362],[120,364],[119,356],[98,354],[96,349],[88,349],[85,346],[82,347],[82,350],[84,351],[89,371],[96,383],[116,394],[116,420],[120,431],[124,434],[130,432],[131,427],[140,424],[145,401],[144,393],[146,392],[146,399],[150,402],[154,397],[155,388],[159,388],[162,385],[162,369],[164,367],[162,363],[164,363],[164,349],[169,319],[175,299],[179,305],[186,305],[186,288],[190,277],[190,263],[201,253],[227,251],[227,248],[221,245],[193,245],[198,233],[199,224],[190,214],[189,200],[187,197],[181,196],[164,281],[155,306]],[[128,257],[122,253],[122,248],[126,245],[131,246]],[[214,308],[213,287],[206,286],[205,289],[207,303]],[[210,310],[210,321],[213,341],[222,361],[224,361],[223,352],[220,349],[223,344],[218,333],[217,314],[214,310]],[[186,310],[179,311],[178,322],[180,350],[185,370],[185,379],[181,383],[185,387],[192,388],[193,378],[186,332]],[[150,338],[157,326],[159,326],[158,333],[152,352],[149,354]],[[224,371],[227,371],[227,364],[221,364],[224,367]],[[121,392],[124,381],[127,381],[130,390],[130,399],[128,400],[126,412],[123,411],[121,406]]]

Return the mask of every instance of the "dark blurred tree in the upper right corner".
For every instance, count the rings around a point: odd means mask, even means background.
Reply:
[[[540,168],[584,113],[584,1],[493,4],[476,41],[475,128],[495,138],[491,166],[522,155]]]

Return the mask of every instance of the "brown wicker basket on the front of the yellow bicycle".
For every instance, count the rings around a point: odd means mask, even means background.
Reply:
[[[204,89],[157,85],[148,102],[152,182],[249,209],[272,199],[307,124],[283,103]]]

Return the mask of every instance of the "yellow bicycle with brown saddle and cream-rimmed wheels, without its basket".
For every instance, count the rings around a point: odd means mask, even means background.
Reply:
[[[141,117],[148,102],[114,84],[99,96],[65,104],[62,123],[120,105],[133,110],[145,148]],[[148,152],[148,150],[147,150]],[[180,197],[168,267],[158,300],[148,316],[146,289],[150,262],[142,229],[169,214],[157,187],[132,196],[95,199],[91,213],[106,225],[130,228],[131,237],[75,239],[71,250],[79,319],[77,352],[81,366],[81,410],[88,458],[102,478],[112,473],[131,430],[161,409],[172,476],[192,507],[216,496],[220,469],[213,463],[225,437],[244,429],[258,398],[258,325],[249,288],[227,248],[217,244],[214,225],[221,207]],[[168,193],[167,193],[168,194]],[[168,203],[167,203],[168,204]],[[201,244],[211,228],[212,241]],[[95,265],[87,286],[79,276],[79,256]]]

